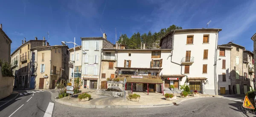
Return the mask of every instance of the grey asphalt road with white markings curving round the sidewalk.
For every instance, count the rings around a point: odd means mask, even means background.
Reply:
[[[52,102],[45,91],[20,95],[0,107],[0,117],[248,117],[239,111],[240,99],[244,96],[197,98],[160,108],[89,109]]]

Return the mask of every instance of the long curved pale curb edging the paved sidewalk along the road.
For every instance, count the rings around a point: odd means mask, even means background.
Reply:
[[[50,91],[47,91],[50,92]],[[77,103],[67,103],[64,101],[57,100],[53,97],[52,92],[51,94],[51,100],[53,102],[57,102],[60,104],[64,104],[67,106],[74,106],[74,107],[81,107],[81,108],[93,108],[93,109],[103,109],[103,108],[109,108],[109,109],[129,109],[129,108],[154,108],[154,107],[166,107],[166,106],[173,106],[173,103],[170,104],[154,104],[154,105],[85,105],[85,104],[77,104]],[[210,96],[209,96],[210,97]],[[191,97],[187,98],[185,100],[178,100],[176,104],[181,103],[186,100],[196,99],[196,98],[204,98],[204,97]]]

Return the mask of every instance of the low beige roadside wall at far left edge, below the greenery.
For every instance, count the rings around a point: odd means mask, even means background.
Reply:
[[[0,67],[0,100],[12,94],[13,80],[13,77],[2,76],[2,67]]]

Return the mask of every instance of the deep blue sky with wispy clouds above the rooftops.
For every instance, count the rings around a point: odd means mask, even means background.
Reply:
[[[246,1],[246,2],[244,2]],[[21,39],[48,40],[50,45],[80,37],[115,40],[115,28],[130,37],[134,32],[160,31],[175,24],[185,28],[222,28],[219,44],[234,43],[253,50],[256,0],[3,0],[0,23],[12,39],[12,52]],[[73,45],[69,45],[73,47]]]

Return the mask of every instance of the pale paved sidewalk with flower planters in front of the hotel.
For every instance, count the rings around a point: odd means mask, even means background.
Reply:
[[[148,107],[163,107],[163,106],[172,106],[173,103],[180,103],[184,100],[201,98],[201,97],[212,97],[212,95],[203,95],[200,94],[199,97],[193,97],[189,95],[187,98],[181,98],[180,94],[175,94],[177,100],[165,100],[165,97],[161,93],[147,93],[145,92],[134,92],[135,94],[140,95],[140,101],[134,102],[130,101],[124,97],[112,97],[105,95],[96,95],[96,90],[93,89],[81,89],[82,92],[87,92],[92,96],[92,99],[89,101],[79,101],[77,96],[80,94],[75,94],[73,97],[63,97],[61,99],[55,99],[58,97],[58,91],[49,90],[52,95],[52,100],[68,106],[77,106],[84,108],[148,108]],[[217,96],[215,96],[217,97]]]

